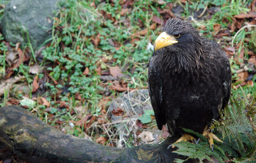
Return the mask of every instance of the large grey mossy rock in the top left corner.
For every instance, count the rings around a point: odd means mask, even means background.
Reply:
[[[11,0],[6,5],[1,30],[7,41],[29,41],[34,49],[51,38],[53,11],[58,9],[58,0]]]

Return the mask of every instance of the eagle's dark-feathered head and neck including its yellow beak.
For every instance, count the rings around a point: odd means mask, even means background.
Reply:
[[[163,32],[154,43],[154,49],[156,53],[176,60],[179,67],[186,69],[198,69],[205,53],[198,31],[189,22],[180,18],[170,18],[166,22]]]

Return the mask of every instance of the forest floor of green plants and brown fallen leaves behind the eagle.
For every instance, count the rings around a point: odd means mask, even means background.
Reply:
[[[111,123],[109,104],[122,92],[147,89],[152,45],[172,17],[191,22],[201,36],[219,43],[230,59],[232,96],[240,99],[245,94],[255,100],[255,4],[67,0],[54,17],[52,41],[35,53],[29,46],[5,41],[0,33],[0,106],[23,106],[61,132],[118,146],[104,129]],[[122,108],[112,114],[126,116]],[[157,128],[151,118],[137,120],[138,128]],[[124,144],[134,145],[131,139]]]

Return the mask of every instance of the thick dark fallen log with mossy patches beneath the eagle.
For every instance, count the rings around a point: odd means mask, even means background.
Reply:
[[[132,148],[109,147],[60,132],[19,106],[0,108],[0,148],[8,148],[26,162],[173,162],[184,159],[173,149],[167,150],[176,139],[172,136],[161,144]]]

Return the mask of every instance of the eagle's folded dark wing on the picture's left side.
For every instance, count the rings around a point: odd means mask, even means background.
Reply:
[[[154,53],[150,58],[148,65],[148,92],[152,104],[152,108],[155,113],[157,127],[159,130],[162,129],[163,125],[166,124],[166,116],[163,108],[163,73],[159,72],[159,66],[157,64],[157,55]]]

